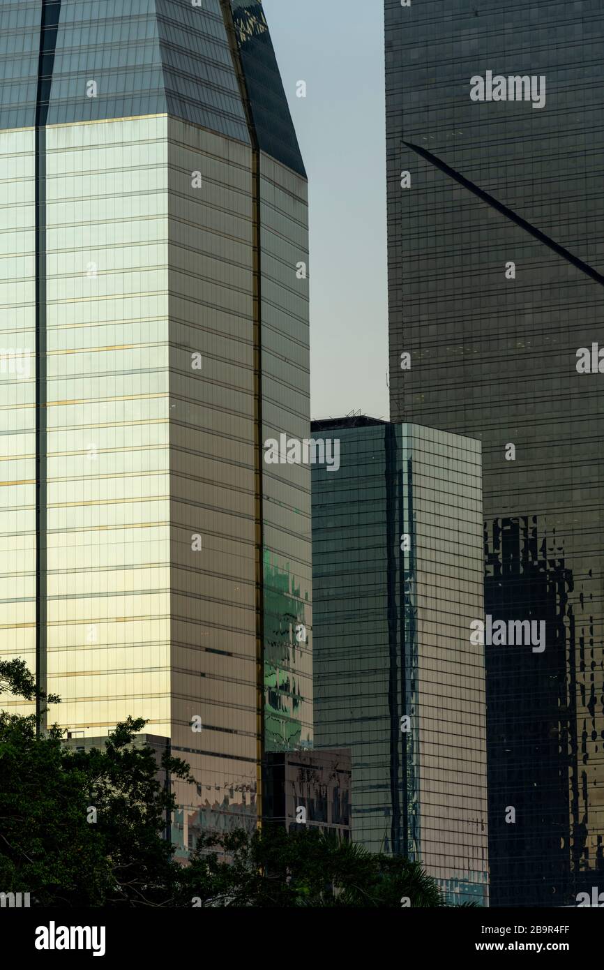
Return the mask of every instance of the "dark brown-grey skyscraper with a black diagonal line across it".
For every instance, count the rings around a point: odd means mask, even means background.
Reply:
[[[385,14],[391,418],[482,439],[487,613],[547,631],[486,647],[492,904],[572,905],[604,869],[604,13]]]

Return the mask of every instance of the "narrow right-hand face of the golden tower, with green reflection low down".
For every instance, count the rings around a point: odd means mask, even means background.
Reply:
[[[302,179],[260,155],[263,441],[308,437],[307,198]],[[310,469],[264,465],[265,744],[312,746]],[[302,628],[301,635],[300,630]],[[299,630],[297,634],[297,630]]]

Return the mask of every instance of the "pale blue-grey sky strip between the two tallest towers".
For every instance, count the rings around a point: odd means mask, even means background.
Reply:
[[[310,185],[312,417],[388,418],[383,4],[263,7]]]

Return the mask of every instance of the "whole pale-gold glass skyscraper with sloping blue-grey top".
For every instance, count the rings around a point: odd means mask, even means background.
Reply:
[[[0,64],[2,656],[253,826],[263,753],[312,740],[309,469],[261,447],[308,431],[307,182],[262,4],[2,0]]]

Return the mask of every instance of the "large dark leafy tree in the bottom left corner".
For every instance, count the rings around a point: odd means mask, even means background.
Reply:
[[[0,689],[40,696],[20,660],[0,663]],[[2,891],[42,906],[171,904],[181,868],[163,829],[175,796],[153,750],[131,746],[145,723],[128,718],[104,751],[72,751],[59,727],[37,735],[35,715],[0,713]],[[162,767],[193,781],[182,760],[164,755]]]

